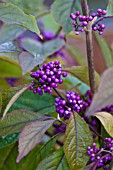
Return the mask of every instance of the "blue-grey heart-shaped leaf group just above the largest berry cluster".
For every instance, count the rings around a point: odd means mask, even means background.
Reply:
[[[38,64],[42,64],[46,57],[58,51],[64,45],[64,40],[59,38],[51,41],[40,43],[35,40],[26,38],[22,41],[22,46],[30,52],[22,52],[19,55],[19,62],[23,70],[23,74],[34,69]],[[32,55],[31,55],[32,54]]]

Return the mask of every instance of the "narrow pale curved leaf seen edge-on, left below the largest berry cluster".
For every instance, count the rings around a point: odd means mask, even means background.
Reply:
[[[20,95],[22,95],[22,93],[24,93],[26,90],[28,89],[28,87],[24,87],[22,88],[20,91],[18,91],[9,101],[9,103],[7,104],[4,113],[3,113],[3,118],[5,117],[5,115],[7,114],[8,110],[10,109],[10,107],[14,104],[14,102],[20,97]]]

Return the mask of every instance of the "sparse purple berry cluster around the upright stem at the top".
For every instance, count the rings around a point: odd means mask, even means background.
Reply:
[[[79,32],[84,32],[84,28],[87,27],[88,22],[95,21],[97,18],[104,17],[106,15],[106,10],[98,9],[97,13],[92,13],[89,16],[80,15],[80,11],[76,11],[75,14],[71,13],[70,18],[74,20],[72,25],[75,29],[75,34],[78,35]],[[103,34],[105,25],[100,22],[95,22],[92,25],[93,31],[98,31],[100,35]]]

